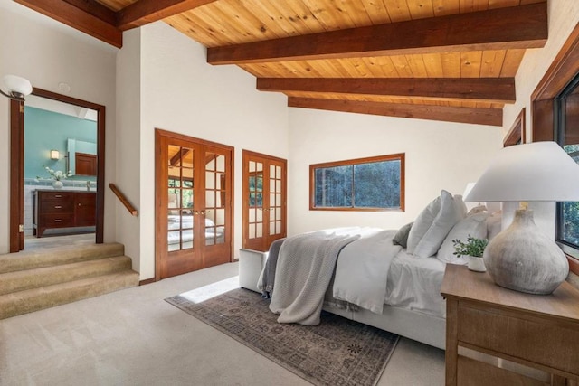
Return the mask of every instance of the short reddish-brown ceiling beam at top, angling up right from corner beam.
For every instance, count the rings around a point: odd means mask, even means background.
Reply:
[[[213,3],[215,0],[139,0],[117,13],[117,27],[127,31],[141,25],[157,22],[157,20],[198,6]]]

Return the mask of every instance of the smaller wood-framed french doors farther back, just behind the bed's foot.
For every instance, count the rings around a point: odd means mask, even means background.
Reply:
[[[243,248],[286,237],[286,169],[285,159],[243,150]]]

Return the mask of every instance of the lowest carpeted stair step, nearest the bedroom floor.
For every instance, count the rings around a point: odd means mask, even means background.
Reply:
[[[126,287],[138,286],[138,273],[125,270],[94,278],[82,278],[47,287],[0,295],[0,319],[27,314],[52,306],[97,297]]]

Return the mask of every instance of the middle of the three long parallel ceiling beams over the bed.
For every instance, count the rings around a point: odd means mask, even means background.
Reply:
[[[258,78],[257,89],[515,103],[514,78]]]

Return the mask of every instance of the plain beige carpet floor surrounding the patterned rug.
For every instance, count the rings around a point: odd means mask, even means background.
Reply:
[[[226,278],[224,264],[0,321],[0,385],[308,385],[164,300]],[[441,386],[444,352],[401,338],[378,386]]]

